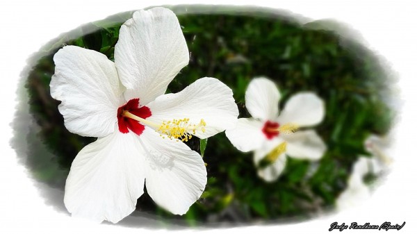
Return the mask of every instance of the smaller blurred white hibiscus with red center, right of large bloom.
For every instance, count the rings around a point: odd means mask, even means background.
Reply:
[[[296,131],[322,121],[323,101],[316,94],[301,92],[291,97],[279,114],[279,98],[275,83],[267,78],[254,78],[245,94],[246,108],[252,118],[238,119],[236,128],[226,131],[237,149],[254,151],[258,174],[268,182],[275,181],[284,170],[287,155],[318,160],[326,151],[325,143],[315,131]],[[269,165],[262,167],[264,161]]]

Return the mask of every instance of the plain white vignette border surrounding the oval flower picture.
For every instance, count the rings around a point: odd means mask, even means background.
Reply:
[[[407,222],[401,233],[409,233],[416,207],[417,190],[413,185],[416,172],[413,156],[414,132],[416,129],[417,110],[413,100],[416,93],[417,41],[415,28],[416,17],[411,14],[411,1],[400,3],[371,1],[243,1],[240,5],[256,5],[280,8],[311,19],[337,19],[352,26],[361,33],[360,39],[366,47],[377,51],[392,65],[398,77],[401,99],[404,101],[395,127],[396,144],[393,170],[373,197],[361,207],[341,213],[318,217],[299,224],[281,224],[279,226],[248,226],[231,229],[216,229],[218,233],[291,233],[308,231],[309,233],[327,233],[330,224],[338,222],[357,222],[380,225],[386,221],[392,224]],[[1,107],[3,108],[1,124],[0,157],[0,192],[1,233],[166,233],[166,229],[128,228],[124,226],[92,224],[81,219],[72,219],[70,215],[56,212],[47,206],[41,192],[35,187],[28,170],[18,162],[16,153],[10,148],[15,108],[17,106],[17,83],[28,58],[44,44],[82,24],[104,19],[109,15],[127,10],[148,7],[149,2],[139,1],[3,1],[0,7],[2,56],[0,56],[2,81]],[[164,4],[208,3],[208,1],[154,1],[153,6]],[[210,1],[211,4],[235,5],[231,0]],[[413,34],[414,33],[414,34]],[[413,64],[414,62],[414,64]],[[260,230],[259,230],[260,229]],[[176,230],[192,233],[194,230]],[[202,233],[212,229],[202,229]],[[338,231],[336,231],[338,232]],[[345,231],[369,233],[366,230]]]

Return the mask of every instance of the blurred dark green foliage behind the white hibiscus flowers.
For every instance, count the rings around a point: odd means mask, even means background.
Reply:
[[[183,6],[172,8],[184,12]],[[327,210],[346,187],[352,164],[359,155],[368,155],[363,141],[370,133],[389,131],[393,110],[382,101],[389,88],[382,65],[360,44],[332,32],[309,29],[279,12],[248,8],[212,8],[210,14],[178,15],[190,51],[190,64],[181,70],[167,92],[179,92],[198,78],[212,76],[229,85],[240,110],[245,109],[245,90],[256,76],[271,78],[281,92],[280,108],[288,97],[308,90],[325,100],[325,119],[316,131],[328,150],[318,162],[288,158],[284,173],[275,183],[265,183],[256,174],[252,153],[241,153],[224,133],[188,145],[205,149],[208,183],[202,197],[182,217],[158,208],[146,194],[138,199],[137,210],[161,215],[166,220],[196,222],[253,222],[258,219],[309,218]],[[113,60],[114,47],[122,22],[132,12],[87,24],[55,43],[73,44],[104,53]],[[343,43],[341,43],[343,42]],[[343,46],[342,46],[343,44]],[[95,138],[67,131],[58,112],[59,102],[49,94],[54,74],[53,48],[38,60],[28,76],[31,113],[39,124],[44,144],[54,153],[53,160],[69,171],[76,154]],[[30,139],[29,139],[30,141]],[[42,164],[37,151],[29,160]],[[45,162],[46,163],[46,162]],[[50,163],[50,162],[49,162]],[[63,188],[64,176],[44,167],[32,167],[40,181]]]

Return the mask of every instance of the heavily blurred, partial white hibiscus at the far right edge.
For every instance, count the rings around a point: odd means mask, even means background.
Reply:
[[[358,206],[364,201],[368,200],[371,195],[371,190],[363,181],[366,174],[382,174],[392,160],[386,153],[390,150],[391,137],[378,137],[377,135],[370,135],[365,140],[365,149],[372,154],[372,158],[367,156],[360,156],[357,162],[354,163],[352,172],[347,181],[346,189],[336,199],[336,208],[338,210],[345,210]]]

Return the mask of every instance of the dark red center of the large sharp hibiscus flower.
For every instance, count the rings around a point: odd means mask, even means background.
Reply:
[[[131,99],[124,106],[117,109],[117,124],[119,125],[120,133],[129,133],[129,130],[138,135],[142,134],[145,126],[140,124],[135,119],[125,117],[124,111],[129,111],[131,114],[146,119],[152,115],[151,110],[147,106],[139,107],[139,99]]]

